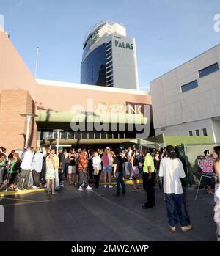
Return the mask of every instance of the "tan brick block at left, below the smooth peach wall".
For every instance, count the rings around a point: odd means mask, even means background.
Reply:
[[[12,149],[23,148],[26,138],[26,117],[23,113],[34,113],[35,105],[26,90],[0,90],[0,146]],[[29,145],[37,146],[37,125],[31,122]]]

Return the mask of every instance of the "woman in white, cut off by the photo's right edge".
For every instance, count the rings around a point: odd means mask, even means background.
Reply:
[[[213,152],[213,157],[216,158],[216,162],[214,164],[216,175],[217,175],[217,182],[216,182],[216,193],[215,193],[215,216],[214,220],[216,222],[217,230],[216,230],[216,235],[217,235],[217,241],[220,242],[220,146],[214,147],[214,152]]]

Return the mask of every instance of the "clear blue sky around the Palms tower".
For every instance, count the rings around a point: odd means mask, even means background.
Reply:
[[[219,0],[0,0],[4,29],[37,78],[80,82],[82,42],[103,20],[136,39],[139,87],[220,43]],[[1,56],[0,56],[1,57]]]

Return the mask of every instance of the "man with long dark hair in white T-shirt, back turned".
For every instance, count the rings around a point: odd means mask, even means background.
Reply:
[[[180,178],[185,178],[183,164],[177,154],[175,148],[167,146],[166,151],[168,157],[161,159],[159,177],[164,178],[164,194],[166,202],[166,210],[169,228],[176,231],[179,216],[181,230],[188,231],[192,229],[191,222],[183,200],[183,188]]]

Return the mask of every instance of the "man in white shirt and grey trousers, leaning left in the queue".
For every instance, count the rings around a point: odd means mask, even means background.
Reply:
[[[32,167],[32,159],[33,159],[34,153],[32,152],[31,148],[28,147],[26,152],[23,156],[23,161],[21,163],[21,174],[20,178],[18,180],[18,190],[19,189],[28,189],[28,182]]]

